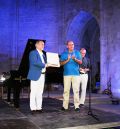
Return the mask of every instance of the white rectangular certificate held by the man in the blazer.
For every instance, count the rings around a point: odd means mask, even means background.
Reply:
[[[58,53],[46,52],[47,65],[51,67],[60,67]]]

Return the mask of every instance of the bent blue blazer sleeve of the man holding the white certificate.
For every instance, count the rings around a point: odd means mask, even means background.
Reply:
[[[37,54],[35,54],[35,52],[31,52],[29,55],[29,60],[30,60],[30,64],[39,67],[39,68],[44,68],[45,64],[43,64],[39,59]]]

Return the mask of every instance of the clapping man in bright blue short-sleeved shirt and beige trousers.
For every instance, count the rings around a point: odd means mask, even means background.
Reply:
[[[69,95],[72,83],[73,93],[74,93],[74,106],[75,111],[80,111],[79,109],[79,82],[80,73],[79,65],[82,63],[80,52],[74,50],[73,41],[67,42],[67,51],[61,54],[60,64],[64,68],[64,93],[63,93],[63,107],[62,110],[68,110],[69,105]]]

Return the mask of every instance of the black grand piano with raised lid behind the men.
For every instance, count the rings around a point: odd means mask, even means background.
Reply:
[[[29,53],[35,49],[37,39],[28,39],[25,51],[18,70],[11,70],[10,77],[4,81],[4,86],[7,87],[7,101],[11,102],[11,93],[13,92],[13,104],[15,108],[19,108],[20,91],[23,87],[30,86],[30,81],[27,80],[29,70]],[[45,40],[43,40],[45,42]],[[46,52],[43,51],[46,56]],[[48,67],[46,69],[45,84],[49,86],[53,83],[63,83],[63,67]]]

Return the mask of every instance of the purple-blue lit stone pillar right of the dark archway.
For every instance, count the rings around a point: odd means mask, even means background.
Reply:
[[[111,78],[113,97],[120,97],[120,2],[101,0],[101,90]]]

